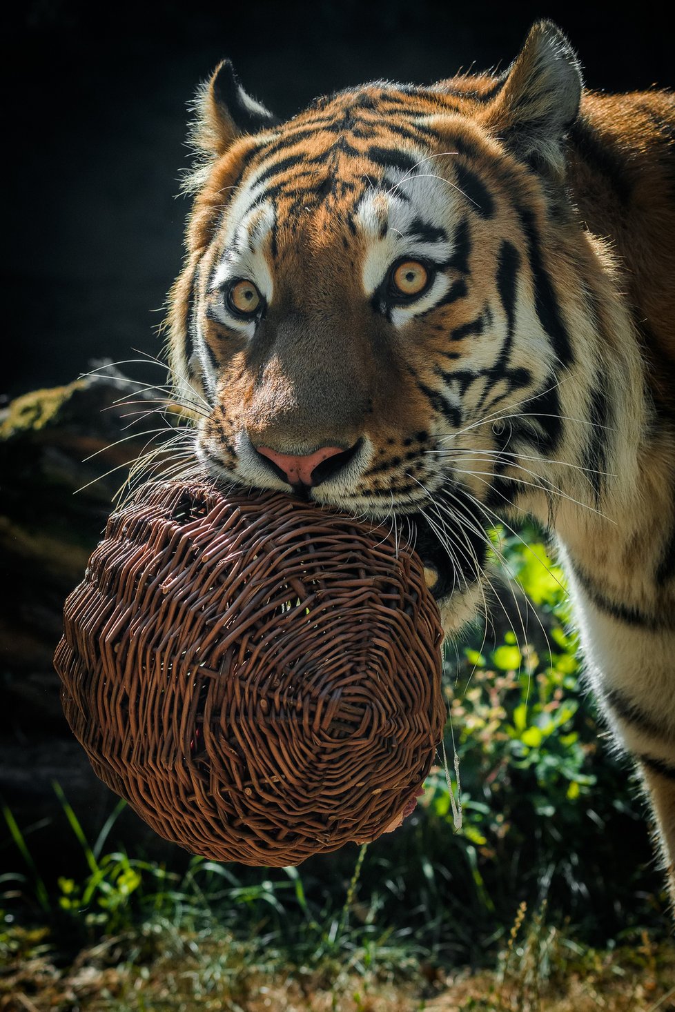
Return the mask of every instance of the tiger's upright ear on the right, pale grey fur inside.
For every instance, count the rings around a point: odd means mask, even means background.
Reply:
[[[564,170],[563,139],[579,113],[581,67],[552,21],[537,21],[503,78],[488,112],[513,154],[544,174]]]

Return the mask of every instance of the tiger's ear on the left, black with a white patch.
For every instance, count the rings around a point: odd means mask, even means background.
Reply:
[[[259,134],[279,120],[239,83],[230,60],[218,65],[196,98],[191,141],[209,155],[222,155],[238,137]]]

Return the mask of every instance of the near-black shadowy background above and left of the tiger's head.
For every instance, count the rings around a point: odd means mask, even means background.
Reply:
[[[590,87],[673,84],[648,6],[438,0],[95,4],[33,0],[5,20],[0,394],[68,382],[90,358],[157,353],[181,260],[186,102],[224,56],[281,115],[378,77],[505,67],[532,20],[569,34]],[[607,11],[611,11],[610,14]],[[7,356],[5,356],[7,360]]]

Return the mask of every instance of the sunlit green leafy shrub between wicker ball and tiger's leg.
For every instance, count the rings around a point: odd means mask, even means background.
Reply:
[[[522,625],[488,647],[474,637],[445,665],[461,783],[461,828],[479,898],[499,924],[520,901],[542,899],[603,941],[619,926],[653,922],[663,909],[647,811],[628,761],[617,755],[582,679],[562,570],[534,531],[494,532],[495,551],[531,605]],[[516,623],[514,623],[514,626]],[[424,798],[431,822],[456,824],[447,773]],[[456,785],[455,785],[456,790]]]

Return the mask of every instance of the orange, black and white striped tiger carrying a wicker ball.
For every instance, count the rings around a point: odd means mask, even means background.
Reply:
[[[651,800],[675,900],[675,103],[584,88],[550,21],[509,68],[280,121],[200,87],[175,396],[219,481],[414,530],[448,637],[533,518]]]

